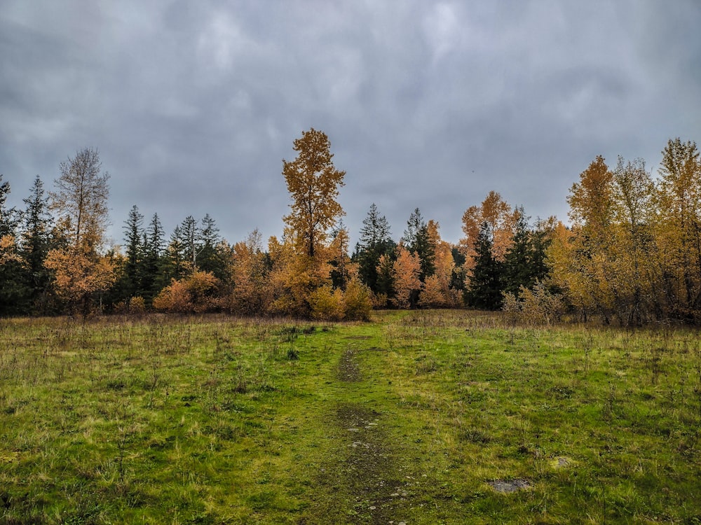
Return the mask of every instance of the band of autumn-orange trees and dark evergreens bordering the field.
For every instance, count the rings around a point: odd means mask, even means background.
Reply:
[[[670,139],[657,174],[642,159],[597,156],[566,199],[567,224],[531,222],[491,191],[465,210],[457,244],[411,211],[400,238],[375,204],[349,246],[338,201],[346,175],[324,132],[302,132],[283,161],[290,193],[281,238],[229,243],[215,219],[170,233],[134,206],[121,248],[105,246],[109,174],[97,150],[36,176],[22,209],[0,176],[0,315],[224,312],[325,321],[372,309],[505,310],[515,321],[618,325],[701,322],[701,160]]]

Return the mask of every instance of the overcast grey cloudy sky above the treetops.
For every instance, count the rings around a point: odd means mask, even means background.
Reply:
[[[597,155],[654,175],[701,141],[700,27],[698,0],[0,0],[0,174],[22,207],[96,148],[114,243],[133,205],[267,239],[313,127],[352,243],[373,203],[456,242],[491,190],[566,222]]]

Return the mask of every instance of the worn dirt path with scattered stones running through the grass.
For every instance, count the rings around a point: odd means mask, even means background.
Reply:
[[[362,380],[355,351],[348,349],[339,359],[336,379],[347,395],[329,414],[329,432],[337,444],[337,455],[322,469],[320,484],[332,496],[320,503],[319,516],[335,516],[336,523],[404,524],[409,505],[404,482],[398,474],[399,448],[383,428],[385,421],[372,403],[349,402],[356,398],[354,384]]]

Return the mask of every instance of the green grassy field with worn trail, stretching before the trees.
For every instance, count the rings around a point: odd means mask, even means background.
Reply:
[[[1,524],[701,524],[686,330],[0,321]]]

